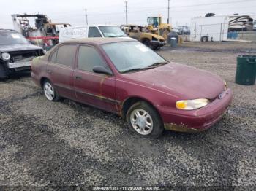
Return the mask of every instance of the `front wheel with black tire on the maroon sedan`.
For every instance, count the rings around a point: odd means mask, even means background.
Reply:
[[[138,117],[139,116],[139,117]],[[145,101],[133,104],[126,116],[129,128],[143,137],[157,138],[162,135],[164,125],[156,109]]]

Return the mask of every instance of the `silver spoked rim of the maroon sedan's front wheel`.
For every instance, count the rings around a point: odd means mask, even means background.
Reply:
[[[153,130],[153,120],[144,109],[135,109],[130,116],[132,127],[141,135],[146,136]]]

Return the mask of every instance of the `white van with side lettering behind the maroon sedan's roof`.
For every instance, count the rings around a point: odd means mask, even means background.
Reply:
[[[59,42],[71,39],[89,38],[89,37],[123,37],[127,36],[119,26],[70,26],[61,28],[59,31]]]

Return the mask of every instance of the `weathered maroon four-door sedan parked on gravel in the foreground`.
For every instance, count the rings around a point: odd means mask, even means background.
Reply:
[[[143,136],[206,130],[232,93],[207,71],[170,63],[134,39],[77,39],[35,58],[31,77],[49,101],[60,97],[125,117]]]

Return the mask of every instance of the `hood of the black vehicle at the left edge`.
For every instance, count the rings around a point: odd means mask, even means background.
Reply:
[[[15,52],[22,50],[42,50],[42,47],[35,46],[34,44],[10,44],[0,45],[0,52]]]

